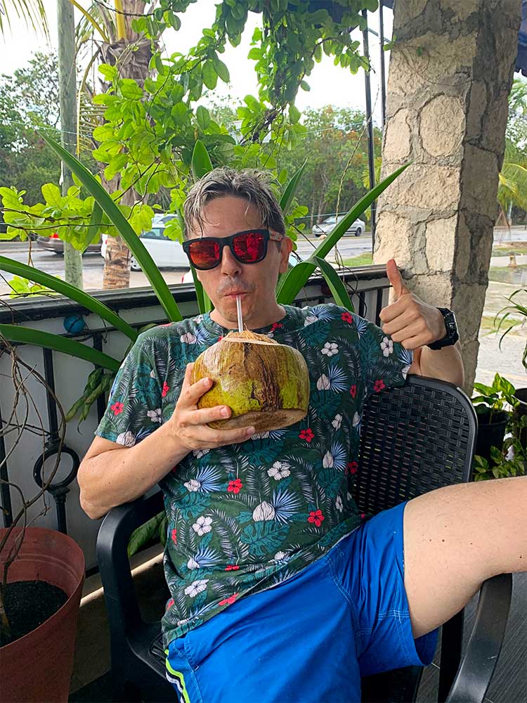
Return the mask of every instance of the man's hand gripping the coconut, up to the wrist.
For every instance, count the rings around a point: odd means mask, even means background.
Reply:
[[[214,420],[225,420],[230,417],[230,408],[218,405],[214,408],[197,407],[197,401],[212,386],[210,378],[202,378],[197,383],[191,383],[193,363],[188,363],[181,394],[169,420],[174,437],[186,447],[193,449],[213,449],[226,444],[241,444],[254,434],[254,427],[238,427],[236,430],[213,430],[207,423]]]

